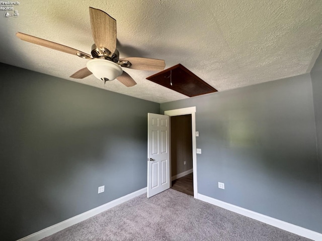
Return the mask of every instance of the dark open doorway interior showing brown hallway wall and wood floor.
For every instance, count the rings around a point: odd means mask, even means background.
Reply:
[[[193,196],[191,114],[170,117],[172,189]]]

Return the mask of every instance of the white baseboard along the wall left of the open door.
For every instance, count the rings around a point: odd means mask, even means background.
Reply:
[[[40,239],[42,239],[44,237],[52,235],[52,234],[54,234],[54,233],[56,233],[58,231],[61,231],[61,230],[65,229],[65,228],[67,228],[67,227],[69,227],[71,225],[74,225],[74,224],[76,224],[78,222],[84,221],[84,220],[86,220],[86,219],[88,219],[90,217],[93,217],[93,216],[95,216],[95,215],[97,215],[97,214],[99,214],[101,212],[104,212],[104,211],[106,211],[106,210],[108,210],[108,209],[110,209],[112,207],[115,207],[115,206],[117,206],[117,205],[119,205],[119,204],[121,204],[123,202],[126,202],[126,201],[128,201],[128,200],[130,200],[130,199],[132,199],[132,198],[134,198],[136,196],[139,196],[141,194],[144,194],[144,193],[146,193],[146,187],[144,187],[144,188],[142,188],[142,189],[140,189],[138,191],[132,192],[132,193],[130,193],[128,195],[125,195],[123,197],[120,197],[118,199],[115,199],[115,200],[113,200],[111,202],[105,203],[105,204],[103,204],[103,205],[101,205],[99,207],[93,208],[93,209],[91,209],[91,210],[89,210],[87,212],[81,213],[81,214],[79,214],[77,216],[71,217],[71,218],[69,218],[67,220],[64,220],[62,222],[54,224],[54,225],[52,225],[50,227],[47,227],[45,229],[42,229],[42,230],[40,230],[38,232],[30,234],[30,235],[28,235],[26,237],[23,237],[23,238],[21,238],[21,239],[19,239],[17,241],[38,241],[38,240],[40,240]]]

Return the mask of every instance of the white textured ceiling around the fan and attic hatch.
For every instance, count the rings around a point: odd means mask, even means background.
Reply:
[[[181,63],[218,91],[307,73],[322,48],[316,0],[21,0],[19,17],[0,11],[0,62],[159,103],[187,98],[145,79],[155,71],[127,69],[137,82],[129,88],[93,75],[69,78],[87,60],[15,36],[90,53],[89,7],[116,19],[120,57],[164,59],[166,68]]]

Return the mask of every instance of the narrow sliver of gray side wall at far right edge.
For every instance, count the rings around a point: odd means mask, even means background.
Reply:
[[[317,156],[322,193],[322,52],[311,70],[313,103],[316,124]],[[321,224],[322,225],[322,224]]]

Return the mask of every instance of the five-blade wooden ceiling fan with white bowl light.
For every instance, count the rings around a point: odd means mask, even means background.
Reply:
[[[139,57],[119,58],[119,51],[116,49],[116,20],[102,10],[91,7],[90,19],[95,43],[92,45],[92,55],[28,34],[18,32],[16,36],[33,44],[89,59],[86,64],[87,67],[73,73],[70,76],[71,78],[83,79],[94,74],[95,77],[103,80],[104,83],[117,79],[125,86],[130,87],[135,85],[136,82],[121,67],[138,70],[164,70],[166,66],[164,60]]]

